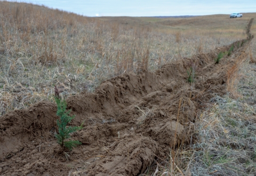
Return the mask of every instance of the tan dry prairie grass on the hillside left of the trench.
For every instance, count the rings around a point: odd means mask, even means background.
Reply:
[[[41,100],[53,101],[54,85],[62,97],[94,91],[121,73],[154,71],[166,62],[230,44],[245,36],[240,26],[247,22],[246,15],[229,23],[221,22],[226,16],[205,17],[218,21],[218,28],[205,25],[204,17],[89,18],[0,2],[0,116]],[[194,20],[194,26],[188,20]],[[170,26],[173,22],[176,25]],[[255,32],[255,25],[252,29]]]

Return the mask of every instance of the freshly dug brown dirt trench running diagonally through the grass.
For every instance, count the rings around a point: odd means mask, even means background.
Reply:
[[[239,47],[238,47],[239,43]],[[150,73],[127,73],[94,93],[67,99],[76,116],[72,135],[82,142],[63,151],[54,138],[57,107],[39,102],[0,117],[0,175],[138,175],[155,156],[193,140],[191,122],[216,94],[226,93],[226,73],[244,52],[242,41],[164,65]],[[214,64],[220,52],[231,55]],[[187,70],[195,68],[195,82]],[[192,141],[193,142],[193,141]]]

